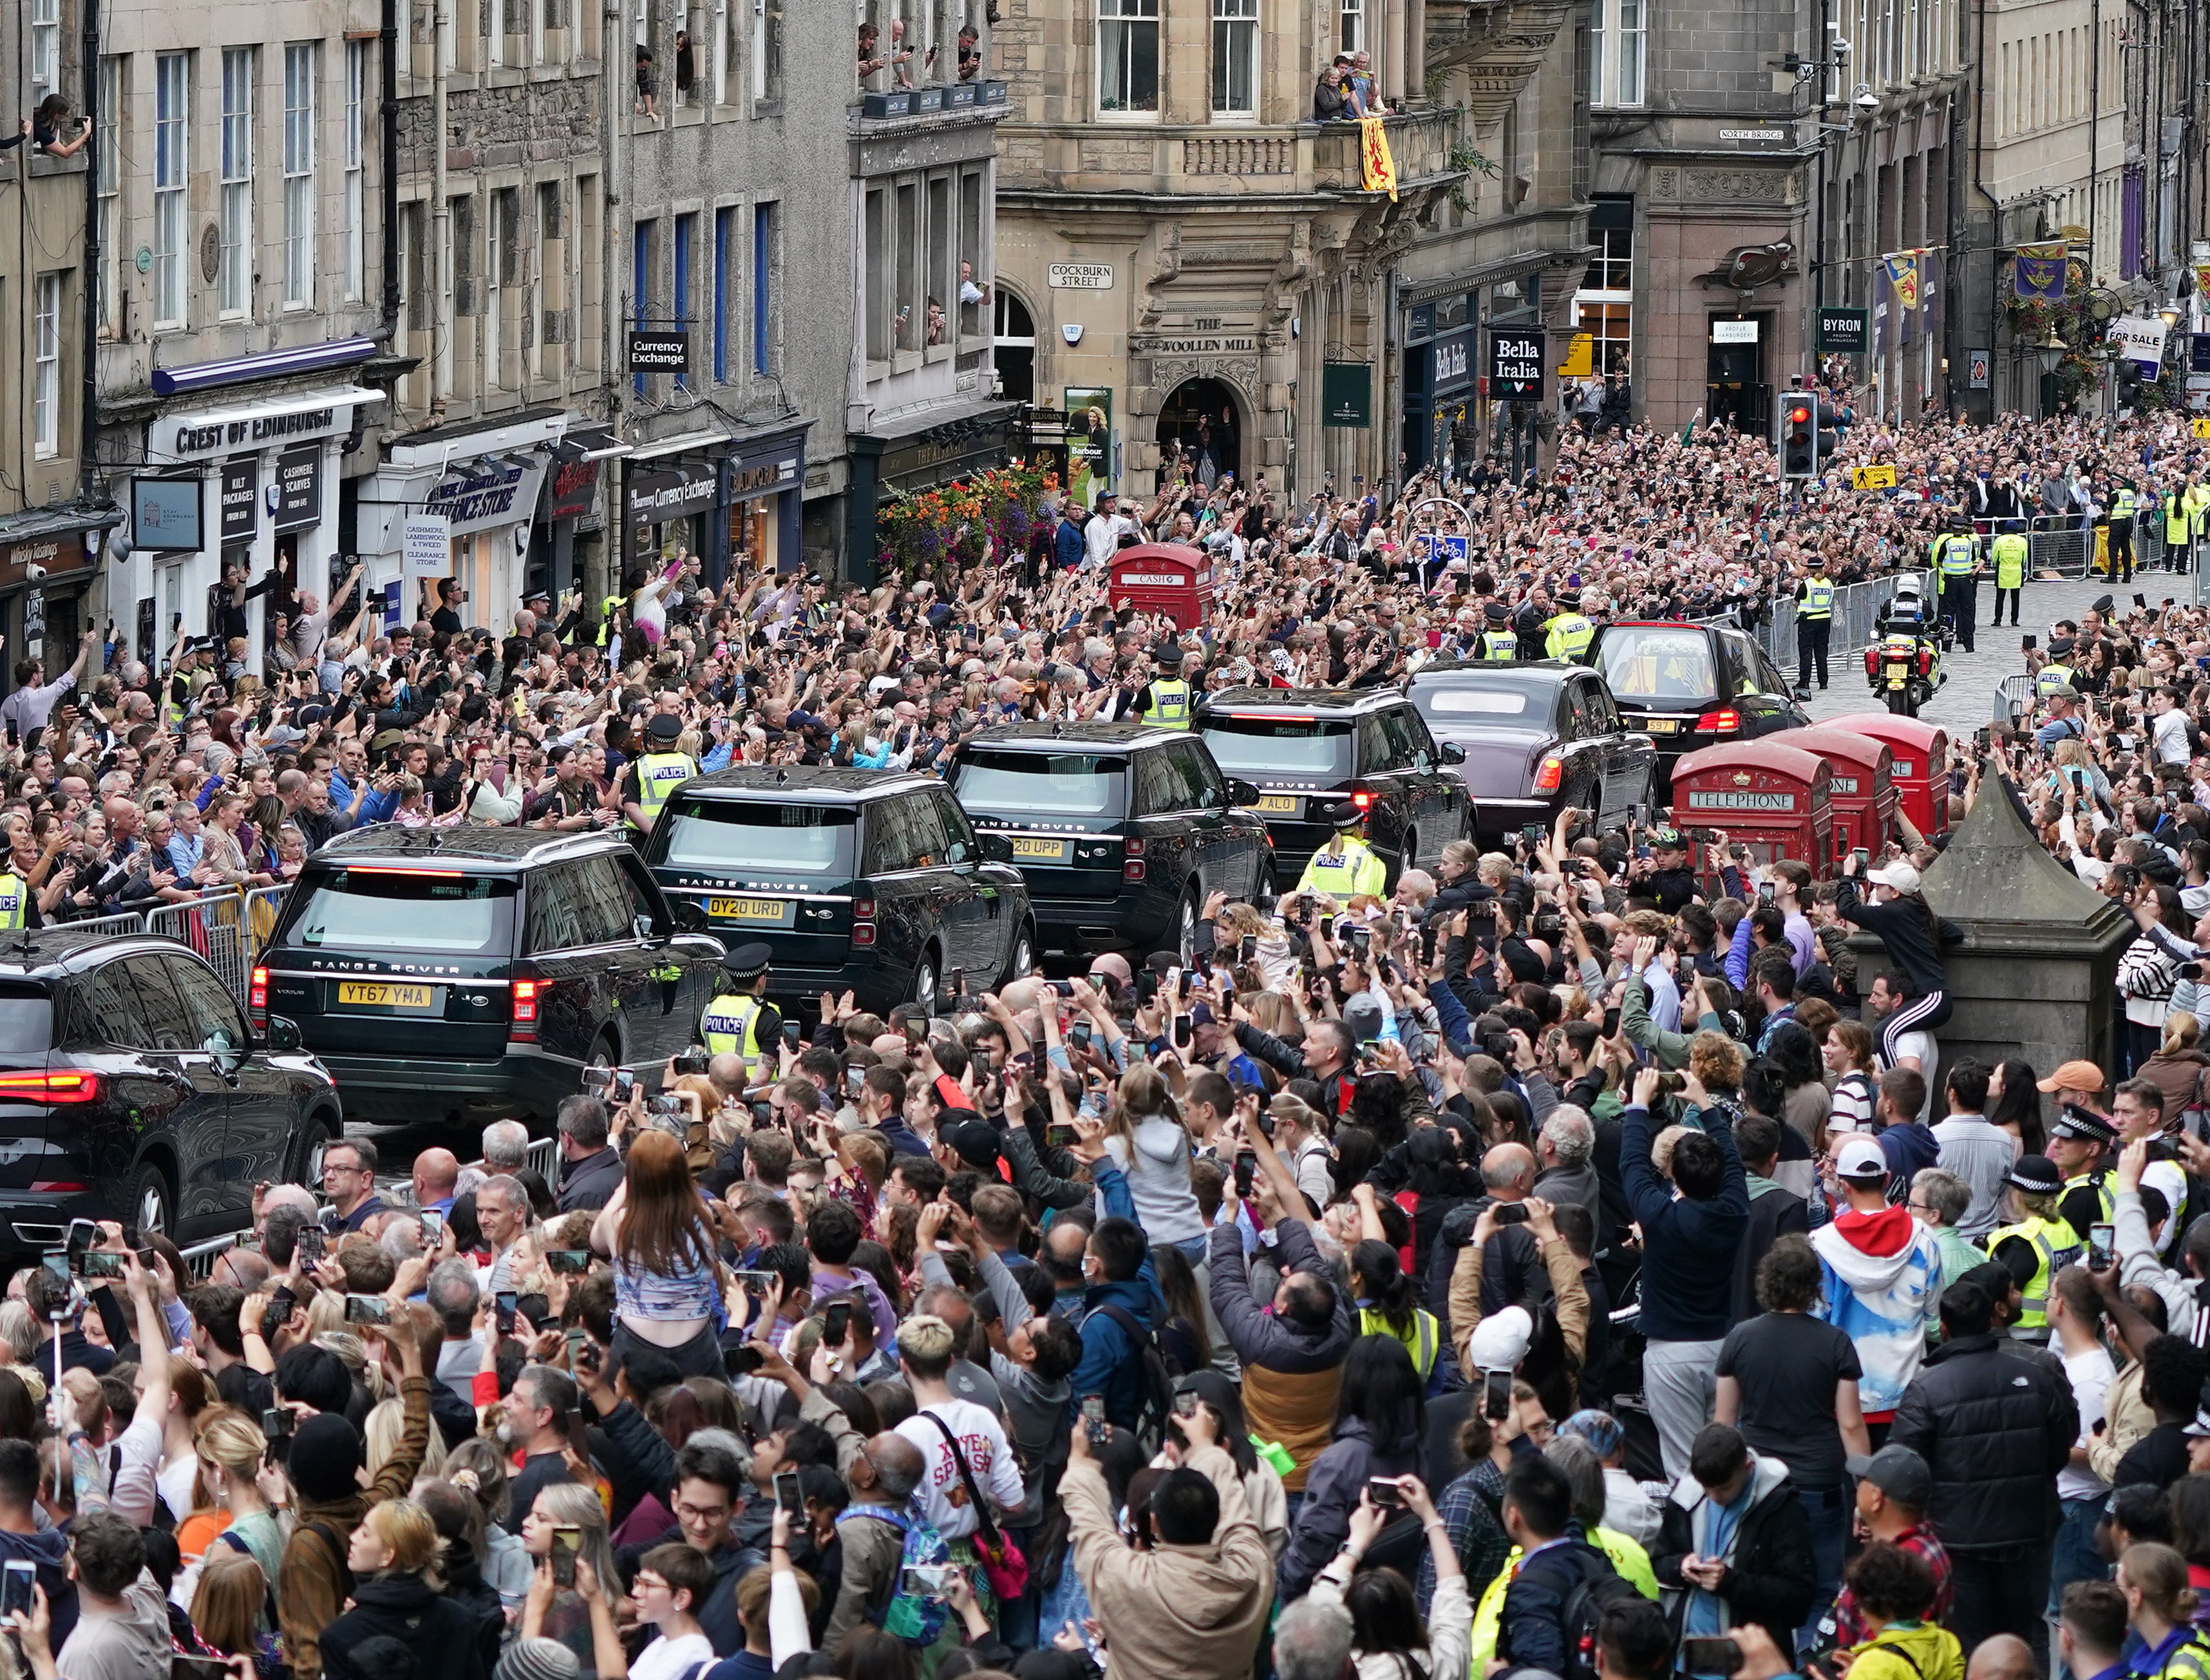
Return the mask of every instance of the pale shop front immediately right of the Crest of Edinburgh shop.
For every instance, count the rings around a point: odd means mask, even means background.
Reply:
[[[537,495],[555,444],[575,424],[568,409],[537,409],[385,444],[385,464],[360,495],[360,564],[369,590],[382,597],[385,628],[427,619],[440,577],[460,579],[466,628],[504,632],[513,623],[530,570]],[[409,557],[409,519],[418,533],[424,519],[444,522],[442,570],[420,546]]]

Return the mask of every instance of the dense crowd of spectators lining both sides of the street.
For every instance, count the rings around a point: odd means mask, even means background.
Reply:
[[[18,663],[0,915],[281,886],[371,822],[634,827],[648,749],[926,771],[1138,714],[1160,643],[1377,685],[1755,619],[2201,480],[2159,416],[1852,424],[1786,502],[1768,444],[1591,427],[1302,506],[1174,458],[873,588],[670,550],[482,628],[232,577],[157,665]],[[1209,623],[1112,599],[1140,539],[1213,550]],[[20,1271],[0,1676],[2201,1680],[2210,628],[2038,641],[1949,818],[2016,800],[2137,922],[2108,1065],[1943,1043],[1916,829],[1814,880],[1569,813],[935,1012],[767,973],[804,1037],[645,1070],[674,1125],[577,1092],[557,1172],[502,1121],[404,1185],[347,1138],[212,1275],[119,1227],[113,1275]]]

